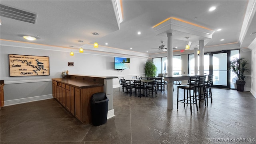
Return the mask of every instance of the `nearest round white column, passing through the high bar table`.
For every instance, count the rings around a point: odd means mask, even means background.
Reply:
[[[167,76],[172,77],[172,33],[167,34]],[[168,81],[167,84],[167,109],[172,109],[172,102],[173,102],[173,90],[172,90],[172,81]]]

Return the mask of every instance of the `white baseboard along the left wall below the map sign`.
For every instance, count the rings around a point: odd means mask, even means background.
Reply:
[[[51,98],[53,98],[52,94],[48,94],[48,95],[43,95],[43,96],[34,96],[34,97],[30,97],[30,98],[20,98],[20,99],[16,99],[16,100],[5,100],[4,106],[12,106],[15,104],[23,104],[23,103],[27,103],[27,102],[47,100],[47,99],[51,99]]]

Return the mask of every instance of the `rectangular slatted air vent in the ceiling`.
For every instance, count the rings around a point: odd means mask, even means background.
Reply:
[[[14,20],[20,20],[23,22],[29,22],[32,24],[36,23],[36,14],[33,14],[31,12],[26,12],[24,10],[19,10],[17,8],[12,8],[9,6],[5,6],[0,4],[0,16],[6,17],[6,18],[12,18]]]

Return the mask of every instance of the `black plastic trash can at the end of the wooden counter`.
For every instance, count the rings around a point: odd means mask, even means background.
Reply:
[[[100,126],[107,122],[108,116],[108,97],[104,92],[92,95],[90,99],[92,112],[92,125]]]

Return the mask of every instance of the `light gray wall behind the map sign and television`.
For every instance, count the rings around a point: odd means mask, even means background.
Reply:
[[[55,48],[40,45],[28,45],[13,42],[2,44],[0,49],[0,79],[4,80],[4,101],[6,104],[22,103],[24,99],[40,100],[38,97],[52,97],[51,78],[61,78],[61,72],[68,70],[70,74],[93,76],[144,76],[144,64],[147,58],[124,56],[118,54],[86,54],[75,52],[70,56],[67,48]],[[74,50],[73,50],[74,51]],[[78,51],[78,50],[77,50]],[[8,54],[21,54],[50,57],[50,76],[18,76],[9,77]],[[114,70],[114,56],[130,58],[130,70]],[[74,66],[68,66],[74,62]],[[119,86],[118,78],[113,79],[113,87]],[[10,102],[9,102],[10,101]],[[9,102],[9,103],[8,103]],[[26,100],[24,100],[26,102]]]

